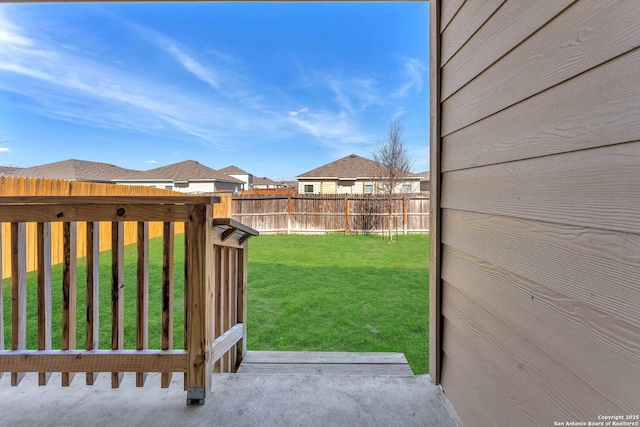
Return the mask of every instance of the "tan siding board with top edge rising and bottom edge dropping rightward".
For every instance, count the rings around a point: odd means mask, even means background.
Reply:
[[[446,172],[441,207],[638,233],[640,142]]]

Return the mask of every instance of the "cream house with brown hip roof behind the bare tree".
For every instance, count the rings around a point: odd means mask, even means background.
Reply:
[[[296,177],[298,193],[313,194],[373,194],[379,193],[376,178],[378,163],[351,154]],[[420,191],[421,176],[408,172],[405,182],[398,185],[397,193]]]

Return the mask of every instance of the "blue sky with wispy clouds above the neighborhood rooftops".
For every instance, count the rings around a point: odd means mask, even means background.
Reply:
[[[428,4],[0,5],[0,165],[192,159],[294,179],[404,123],[429,169]]]

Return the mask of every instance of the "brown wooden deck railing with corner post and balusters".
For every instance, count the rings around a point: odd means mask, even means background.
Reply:
[[[258,233],[228,218],[213,217],[215,197],[0,197],[0,225],[11,224],[11,349],[4,349],[0,286],[0,377],[17,386],[26,372],[46,385],[51,372],[68,386],[74,373],[111,372],[117,388],[124,372],[162,373],[168,387],[174,372],[185,374],[188,404],[202,404],[211,374],[234,372],[246,352],[247,240]],[[135,292],[124,289],[124,223],[137,223]],[[37,349],[27,349],[26,223],[37,224]],[[52,348],[51,223],[63,223],[61,348]],[[111,223],[110,349],[99,348],[99,222]],[[163,223],[161,301],[149,301],[149,222]],[[76,231],[86,223],[86,342],[76,343]],[[174,226],[184,224],[184,349],[173,346]],[[1,230],[1,228],[0,228]],[[4,255],[4,258],[3,258]],[[8,255],[8,256],[7,256]],[[135,349],[124,347],[124,302],[136,299]],[[148,348],[149,304],[162,306],[161,348]]]

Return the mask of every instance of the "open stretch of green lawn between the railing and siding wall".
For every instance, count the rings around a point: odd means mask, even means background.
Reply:
[[[402,352],[428,369],[429,236],[251,240],[250,350]]]

